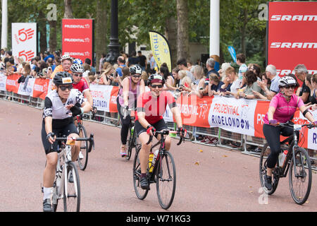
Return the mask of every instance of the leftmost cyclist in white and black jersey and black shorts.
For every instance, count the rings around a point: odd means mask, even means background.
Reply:
[[[73,77],[66,71],[60,71],[54,76],[56,89],[51,90],[44,100],[42,143],[46,153],[46,167],[43,175],[44,212],[51,211],[51,190],[55,177],[57,164],[56,135],[66,135],[78,138],[78,131],[73,122],[73,117],[83,112],[89,112],[91,105],[82,93],[73,89]],[[75,104],[79,103],[80,107]],[[80,142],[75,143],[72,149],[72,160],[77,160],[80,151]],[[70,182],[72,178],[70,178]]]

